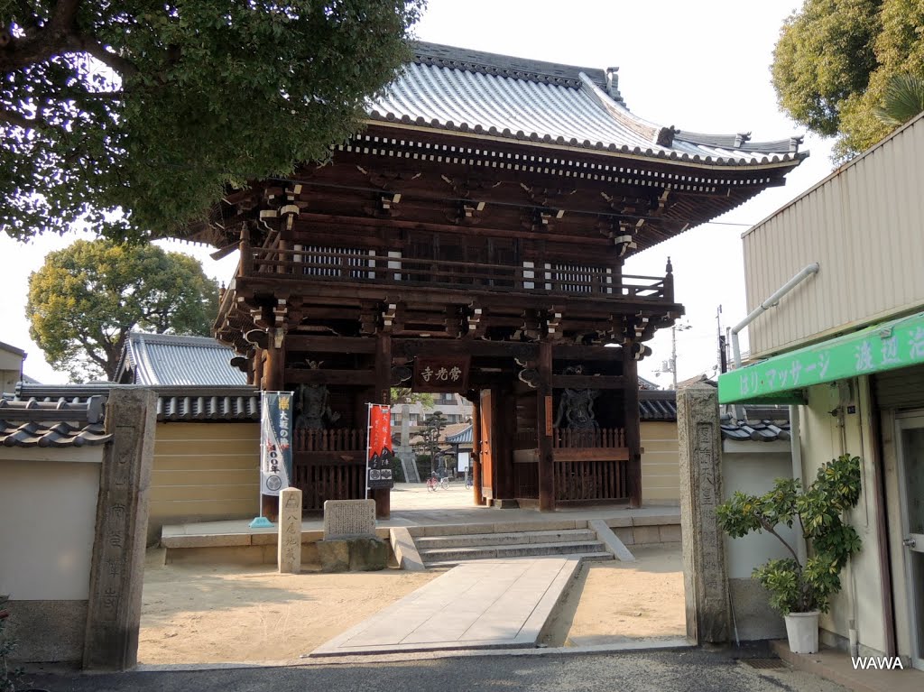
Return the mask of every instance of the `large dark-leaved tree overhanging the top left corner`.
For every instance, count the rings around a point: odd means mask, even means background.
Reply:
[[[323,161],[425,0],[0,0],[0,227],[114,239]]]

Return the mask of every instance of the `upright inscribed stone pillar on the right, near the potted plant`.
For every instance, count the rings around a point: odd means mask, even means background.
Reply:
[[[718,390],[705,382],[677,392],[680,446],[680,528],[687,600],[687,637],[728,640],[728,581],[723,531],[715,515],[722,498],[722,435]]]

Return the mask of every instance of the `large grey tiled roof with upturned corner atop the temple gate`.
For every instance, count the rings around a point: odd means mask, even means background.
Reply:
[[[367,104],[372,120],[720,165],[796,162],[800,140],[751,142],[661,127],[628,111],[599,69],[419,42],[412,63]],[[612,95],[611,95],[612,94]]]

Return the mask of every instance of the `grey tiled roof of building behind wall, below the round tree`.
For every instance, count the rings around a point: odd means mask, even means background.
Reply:
[[[131,370],[130,383],[155,387],[247,386],[247,375],[230,365],[236,355],[210,336],[134,332],[128,335],[118,371]]]

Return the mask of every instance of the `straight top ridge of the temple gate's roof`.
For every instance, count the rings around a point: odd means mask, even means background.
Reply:
[[[489,75],[526,79],[540,83],[561,84],[570,87],[580,86],[578,75],[584,72],[590,75],[590,79],[595,84],[603,88],[606,87],[606,75],[602,69],[595,69],[594,67],[559,65],[558,63],[550,63],[544,60],[531,60],[512,55],[475,51],[470,48],[426,41],[415,41],[413,42],[413,47],[414,62],[421,65],[455,67],[468,72],[481,72]]]

